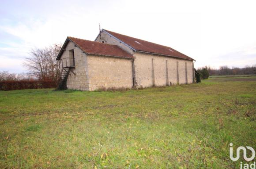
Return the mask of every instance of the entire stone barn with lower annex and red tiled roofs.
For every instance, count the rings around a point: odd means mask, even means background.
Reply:
[[[94,41],[67,37],[59,88],[98,90],[189,84],[194,59],[171,47],[102,29]]]

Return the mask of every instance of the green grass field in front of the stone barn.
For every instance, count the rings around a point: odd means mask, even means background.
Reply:
[[[231,142],[256,147],[255,76],[123,92],[0,91],[1,169],[235,169]]]

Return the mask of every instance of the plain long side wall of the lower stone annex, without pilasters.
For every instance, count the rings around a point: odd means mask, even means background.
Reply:
[[[132,88],[132,59],[88,55],[89,90]]]

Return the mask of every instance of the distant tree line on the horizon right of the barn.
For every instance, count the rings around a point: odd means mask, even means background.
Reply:
[[[204,66],[197,69],[202,74],[202,79],[207,79],[209,76],[219,75],[256,75],[256,64],[252,66],[245,66],[244,68],[228,66],[220,66],[219,68],[212,68],[210,66]]]

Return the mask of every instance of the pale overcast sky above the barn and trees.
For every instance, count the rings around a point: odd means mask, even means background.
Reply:
[[[1,0],[0,71],[26,72],[33,47],[103,29],[172,47],[195,66],[256,64],[255,0]]]

